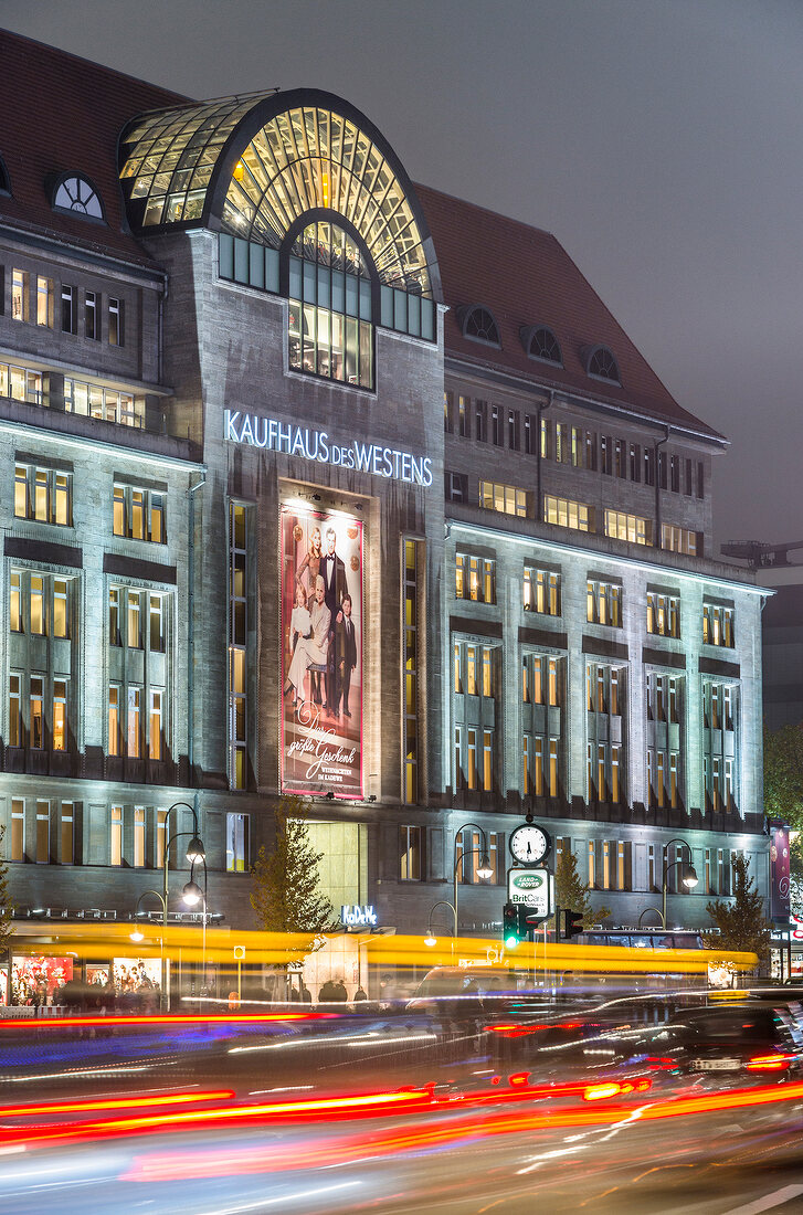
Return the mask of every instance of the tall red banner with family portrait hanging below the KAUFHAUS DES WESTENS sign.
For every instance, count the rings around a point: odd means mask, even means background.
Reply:
[[[282,789],[362,799],[362,520],[282,505]]]

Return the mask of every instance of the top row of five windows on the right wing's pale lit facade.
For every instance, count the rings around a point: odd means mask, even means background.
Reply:
[[[496,561],[459,552],[454,558],[454,595],[476,603],[496,604]],[[522,582],[525,611],[543,616],[561,615],[561,577],[558,571],[525,565]],[[586,583],[586,620],[594,625],[621,628],[623,590],[617,582],[589,578]],[[702,639],[707,645],[735,645],[735,611],[716,604],[703,604]],[[680,637],[680,597],[648,590],[646,631],[655,637]]]

